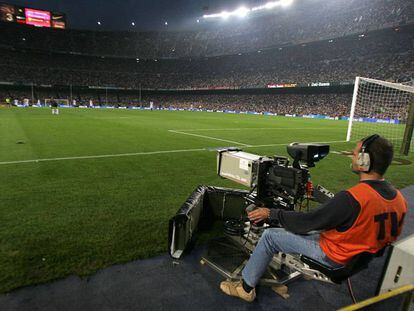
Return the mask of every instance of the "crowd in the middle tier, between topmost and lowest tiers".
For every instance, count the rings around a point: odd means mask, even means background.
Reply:
[[[265,88],[269,84],[403,81],[414,76],[414,25],[212,58],[137,60],[0,49],[0,81],[132,89]]]

